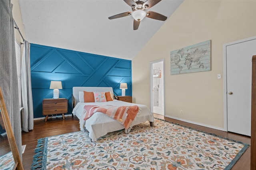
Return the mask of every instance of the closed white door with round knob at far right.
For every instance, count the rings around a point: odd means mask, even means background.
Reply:
[[[251,135],[252,56],[256,38],[226,46],[227,130]]]

